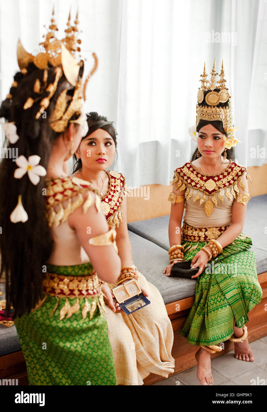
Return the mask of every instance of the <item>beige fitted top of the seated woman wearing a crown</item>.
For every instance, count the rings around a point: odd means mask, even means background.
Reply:
[[[218,199],[215,194],[215,197],[218,201],[217,207],[213,209],[211,216],[207,216],[204,209],[204,202],[199,206],[199,202],[194,201],[194,197],[197,196],[198,190],[192,189],[193,194],[190,199],[187,200],[185,204],[185,222],[193,227],[219,227],[219,226],[228,226],[232,222],[232,206],[234,198],[230,201],[226,196],[226,188],[221,190],[221,194],[224,197],[224,203]],[[202,197],[204,192],[199,190],[199,194]]]

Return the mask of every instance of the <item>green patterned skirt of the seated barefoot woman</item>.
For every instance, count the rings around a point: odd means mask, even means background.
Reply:
[[[182,240],[181,244],[185,260],[192,260],[206,242]],[[234,332],[234,320],[238,328],[248,322],[248,312],[262,299],[255,252],[248,250],[251,245],[251,238],[241,233],[197,277],[195,301],[180,331],[187,343],[224,342]]]

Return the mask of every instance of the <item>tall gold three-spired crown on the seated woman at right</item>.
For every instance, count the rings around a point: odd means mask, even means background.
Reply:
[[[201,87],[197,93],[197,120],[196,126],[199,124],[199,120],[220,120],[223,122],[223,128],[227,137],[225,136],[224,145],[228,149],[235,146],[239,140],[234,137],[234,130],[237,127],[233,126],[232,116],[232,96],[229,95],[228,89],[225,86],[225,73],[222,68],[219,75],[219,80],[216,81],[215,59],[213,68],[211,70],[211,79],[207,80],[208,74],[206,73],[206,67],[204,63],[203,74],[200,75]]]

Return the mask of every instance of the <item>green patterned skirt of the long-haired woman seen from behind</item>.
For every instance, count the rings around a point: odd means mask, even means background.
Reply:
[[[70,275],[93,273],[91,263],[61,267],[47,265],[47,270],[65,275],[63,277],[67,279]],[[99,297],[87,297],[87,316],[84,318],[84,297],[64,299],[47,295],[38,309],[16,318],[30,385],[117,384],[108,327],[99,300]],[[68,317],[65,310],[66,316],[59,320],[65,308],[74,308],[73,313]]]

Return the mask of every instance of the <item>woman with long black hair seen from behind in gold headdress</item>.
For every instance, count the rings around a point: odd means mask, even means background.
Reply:
[[[30,385],[116,385],[96,274],[105,281],[119,276],[115,232],[97,191],[63,170],[88,130],[83,62],[73,56],[77,23],[69,21],[59,41],[52,19],[37,56],[19,42],[21,71],[0,108],[9,147],[19,153],[1,164],[0,274]]]

